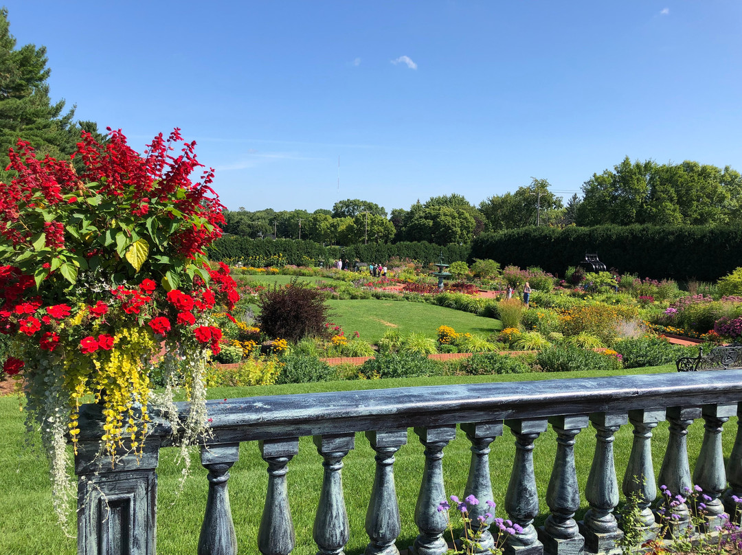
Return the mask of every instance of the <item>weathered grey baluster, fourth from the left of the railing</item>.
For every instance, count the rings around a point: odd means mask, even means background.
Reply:
[[[407,430],[367,432],[371,447],[376,452],[376,473],[371,499],[366,511],[366,533],[369,545],[366,555],[399,555],[394,545],[401,531],[397,490],[394,485],[394,454],[407,443]]]

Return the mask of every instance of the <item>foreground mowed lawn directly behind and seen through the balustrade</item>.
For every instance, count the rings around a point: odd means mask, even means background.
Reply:
[[[673,372],[673,365],[622,372],[623,374],[648,372]],[[233,398],[255,395],[281,395],[290,393],[312,393],[317,391],[340,391],[359,389],[381,389],[416,385],[447,385],[479,383],[485,381],[523,381],[554,378],[584,378],[609,375],[608,372],[565,372],[563,374],[533,373],[526,375],[410,378],[376,381],[338,381],[323,384],[292,384],[285,386],[252,388],[214,388],[209,390],[211,398]],[[610,374],[615,375],[615,374]],[[517,384],[513,384],[517,387]],[[29,448],[24,443],[22,413],[19,413],[17,398],[0,398],[0,421],[4,434],[0,440],[0,553],[13,555],[73,555],[76,553],[75,539],[65,537],[56,525],[51,509],[48,473],[45,460],[38,447]],[[729,456],[735,439],[737,422],[732,418],[724,426],[723,450]],[[654,430],[652,453],[654,470],[658,473],[667,444],[667,423]],[[691,467],[700,450],[703,439],[703,421],[696,421],[689,430],[688,444]],[[619,483],[631,451],[631,426],[623,426],[617,433],[615,459]],[[539,491],[540,515],[536,524],[548,514],[545,493],[556,451],[556,434],[551,427],[536,440],[534,468]],[[460,431],[454,441],[444,450],[444,480],[447,494],[462,496],[466,484],[470,443]],[[502,505],[510,478],[515,446],[513,436],[505,433],[492,444],[490,471],[494,490],[494,501],[498,504],[497,516],[505,516]],[[580,492],[584,493],[595,447],[594,430],[583,430],[577,436],[575,458],[578,468]],[[401,447],[395,459],[395,477],[400,505],[402,531],[397,545],[407,548],[418,531],[414,522],[415,502],[420,487],[424,464],[423,447],[412,430],[408,433],[408,444]],[[192,476],[178,489],[180,467],[174,464],[176,450],[161,451],[158,469],[157,551],[166,555],[191,555],[196,552],[203,510],[206,506],[206,470],[198,464],[194,453]],[[361,555],[368,542],[364,531],[364,518],[370,499],[374,476],[374,453],[364,434],[355,437],[355,449],[344,459],[343,482],[345,501],[349,514],[350,540],[346,548],[348,555]],[[312,444],[311,438],[302,438],[299,454],[289,464],[289,503],[296,528],[297,555],[313,555],[316,546],[312,540],[312,523],[318,506],[322,480],[322,459]],[[240,461],[230,471],[229,491],[232,516],[237,531],[237,543],[241,554],[257,554],[257,528],[263,510],[267,487],[266,463],[260,458],[257,442],[250,441],[240,446]],[[578,517],[587,504],[584,496]]]

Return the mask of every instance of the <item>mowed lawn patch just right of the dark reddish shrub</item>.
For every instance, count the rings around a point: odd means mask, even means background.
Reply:
[[[427,303],[408,301],[327,301],[332,309],[332,321],[340,325],[345,335],[359,332],[361,339],[375,343],[387,332],[396,329],[401,335],[411,332],[436,337],[439,326],[446,325],[459,333],[473,333],[487,337],[502,329],[502,323],[493,318],[485,318],[434,306]]]

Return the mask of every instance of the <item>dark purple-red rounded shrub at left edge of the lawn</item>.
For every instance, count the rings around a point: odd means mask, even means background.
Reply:
[[[257,323],[271,338],[297,342],[307,336],[325,333],[329,306],[324,292],[295,279],[285,287],[274,286],[261,292],[257,299],[260,315]]]

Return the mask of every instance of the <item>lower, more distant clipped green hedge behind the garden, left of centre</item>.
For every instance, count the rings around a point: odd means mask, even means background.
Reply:
[[[351,263],[361,262],[385,263],[391,257],[410,258],[420,263],[437,262],[443,252],[447,263],[456,260],[467,260],[470,254],[469,245],[438,246],[432,243],[394,243],[340,246],[322,246],[314,241],[295,239],[249,239],[237,235],[226,235],[212,244],[209,249],[211,260],[253,263],[263,266],[275,263],[280,256],[283,263],[306,266],[323,262],[332,263],[342,253]]]

